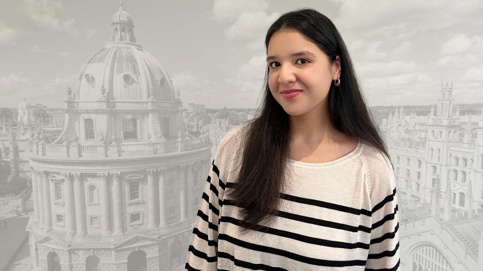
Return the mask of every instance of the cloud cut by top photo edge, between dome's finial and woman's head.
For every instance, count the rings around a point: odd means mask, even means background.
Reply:
[[[268,7],[267,0],[215,0],[212,19],[222,23],[231,23],[243,12],[266,11]]]

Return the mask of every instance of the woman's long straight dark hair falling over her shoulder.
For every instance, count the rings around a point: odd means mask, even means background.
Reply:
[[[310,8],[282,14],[268,29],[266,51],[270,37],[284,29],[297,30],[305,35],[327,54],[332,65],[339,55],[341,84],[336,87],[332,82],[328,92],[330,120],[346,136],[359,138],[384,154],[392,165],[361,93],[349,52],[332,21]],[[261,107],[257,108],[255,118],[243,124],[242,133],[236,133],[237,136],[230,139],[241,143],[241,148],[234,155],[239,161],[236,166],[239,174],[234,183],[227,183],[224,202],[226,200],[241,207],[241,220],[237,222],[241,226],[241,234],[248,230],[264,231],[263,226],[272,224],[272,216],[278,215],[280,192],[288,173],[286,158],[291,148],[289,118],[270,93],[268,76],[267,66],[263,86],[265,98]],[[233,146],[226,144],[225,148],[228,145]],[[260,222],[261,225],[258,225]]]

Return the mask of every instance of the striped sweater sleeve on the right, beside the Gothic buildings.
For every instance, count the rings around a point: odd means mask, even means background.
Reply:
[[[372,225],[366,271],[399,271],[399,213],[394,171],[385,163],[381,168],[372,168],[369,170]]]

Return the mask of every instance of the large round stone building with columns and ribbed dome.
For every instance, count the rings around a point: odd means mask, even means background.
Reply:
[[[213,144],[189,135],[120,4],[111,41],[67,88],[62,133],[29,141],[33,270],[184,270]]]

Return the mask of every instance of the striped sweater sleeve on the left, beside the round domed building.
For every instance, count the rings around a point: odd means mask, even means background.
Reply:
[[[226,137],[220,141],[201,196],[186,258],[185,270],[188,271],[217,270],[218,219],[223,206],[220,193],[225,191],[225,183],[220,179],[221,149]]]

